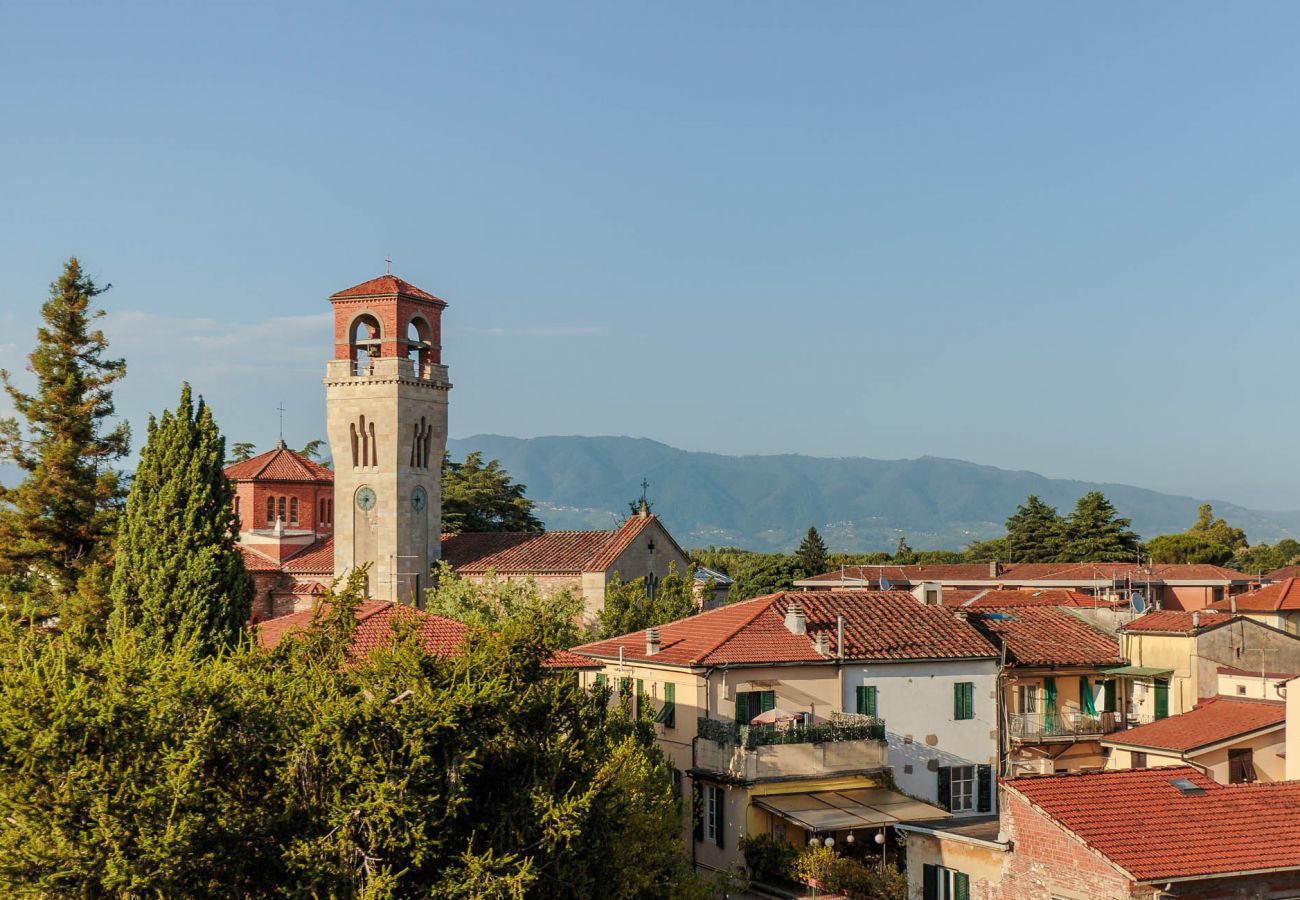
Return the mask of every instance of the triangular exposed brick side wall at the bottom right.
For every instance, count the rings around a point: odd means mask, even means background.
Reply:
[[[1102,856],[1088,849],[1014,791],[1002,791],[1002,838],[1011,841],[1002,870],[1006,900],[1122,900],[1145,897]]]

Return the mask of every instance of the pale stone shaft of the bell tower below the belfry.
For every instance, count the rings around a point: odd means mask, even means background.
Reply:
[[[342,575],[370,564],[372,597],[410,602],[428,587],[441,555],[442,455],[447,443],[446,369],[433,367],[417,377],[412,362],[381,358],[364,375],[352,363],[335,360],[325,378],[326,430],[334,458],[334,570]],[[377,464],[352,464],[352,427],[365,416],[373,424]],[[412,466],[411,443],[417,427],[432,427],[428,466]],[[374,451],[372,451],[374,453]],[[361,510],[358,492],[369,488],[374,507]],[[422,510],[412,496],[422,489]]]

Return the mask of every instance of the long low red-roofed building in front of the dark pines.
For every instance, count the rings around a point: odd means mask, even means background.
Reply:
[[[1201,563],[953,563],[845,566],[794,583],[809,590],[911,589],[922,583],[945,590],[1076,590],[1127,601],[1140,594],[1152,609],[1202,609],[1253,583],[1245,572]]]

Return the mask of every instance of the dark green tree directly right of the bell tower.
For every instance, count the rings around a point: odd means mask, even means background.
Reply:
[[[542,531],[526,488],[511,480],[499,460],[484,463],[477,450],[463,463],[442,459],[442,531]]]

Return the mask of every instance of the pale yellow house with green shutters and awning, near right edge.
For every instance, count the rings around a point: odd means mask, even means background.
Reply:
[[[1218,695],[1218,670],[1300,671],[1300,637],[1213,610],[1148,613],[1121,628],[1123,674],[1140,721],[1186,713]]]

